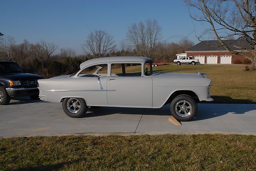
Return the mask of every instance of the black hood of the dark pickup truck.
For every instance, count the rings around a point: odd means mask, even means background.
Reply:
[[[24,79],[43,79],[44,77],[36,74],[29,73],[13,73],[13,74],[4,74],[0,75],[0,79],[8,80],[24,80]]]

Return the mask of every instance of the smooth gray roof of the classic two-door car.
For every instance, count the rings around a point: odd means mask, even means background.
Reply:
[[[94,63],[106,63],[106,62],[147,62],[151,61],[151,58],[142,56],[113,56],[113,57],[101,57],[84,61],[80,64],[80,69],[93,65]]]

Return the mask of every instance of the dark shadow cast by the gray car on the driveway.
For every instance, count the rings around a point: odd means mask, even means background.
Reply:
[[[193,121],[215,118],[226,114],[245,114],[253,110],[256,112],[256,104],[198,104],[198,112]],[[160,109],[91,107],[84,118],[112,114],[170,116],[169,104],[167,104]]]

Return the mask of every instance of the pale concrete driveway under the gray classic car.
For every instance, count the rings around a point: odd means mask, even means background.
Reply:
[[[252,134],[256,104],[199,104],[193,121],[176,126],[161,109],[90,108],[84,118],[70,118],[60,103],[19,98],[0,106],[0,137],[35,135]]]

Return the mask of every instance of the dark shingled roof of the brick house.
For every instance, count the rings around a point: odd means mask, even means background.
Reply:
[[[251,44],[245,39],[223,40],[231,50],[251,50]],[[226,51],[218,40],[205,40],[189,48],[188,51]]]

